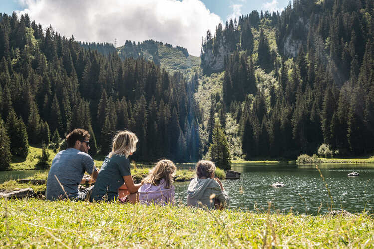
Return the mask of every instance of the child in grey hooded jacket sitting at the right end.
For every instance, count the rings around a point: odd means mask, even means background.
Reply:
[[[214,178],[215,165],[211,161],[200,160],[196,164],[196,177],[188,187],[187,206],[209,209],[228,207],[230,198],[221,181]]]

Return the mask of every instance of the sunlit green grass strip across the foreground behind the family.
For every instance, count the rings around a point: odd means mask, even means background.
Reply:
[[[0,200],[4,248],[373,248],[374,219]]]

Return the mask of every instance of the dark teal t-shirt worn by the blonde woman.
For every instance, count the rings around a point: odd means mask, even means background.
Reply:
[[[123,176],[131,175],[130,161],[123,155],[105,157],[91,194],[92,200],[114,201],[118,188],[124,183]]]

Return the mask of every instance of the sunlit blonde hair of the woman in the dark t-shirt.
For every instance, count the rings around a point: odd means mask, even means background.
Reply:
[[[128,130],[119,131],[113,138],[112,152],[109,153],[109,158],[112,155],[124,155],[129,156],[130,153],[136,151],[136,143],[138,137]]]

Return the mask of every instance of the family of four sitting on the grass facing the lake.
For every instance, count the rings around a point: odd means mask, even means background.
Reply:
[[[169,205],[175,202],[173,177],[176,166],[170,160],[160,160],[141,183],[134,183],[130,172],[131,156],[136,151],[138,138],[130,131],[118,132],[112,151],[105,157],[100,171],[87,154],[90,134],[75,129],[66,136],[68,148],[54,157],[48,173],[46,198],[48,200],[90,200],[119,201],[120,203],[141,203]],[[83,178],[87,172],[91,179]],[[209,209],[223,209],[229,204],[229,197],[221,181],[214,177],[215,165],[201,160],[196,164],[196,177],[188,187],[187,206]],[[95,183],[79,190],[79,184]]]

